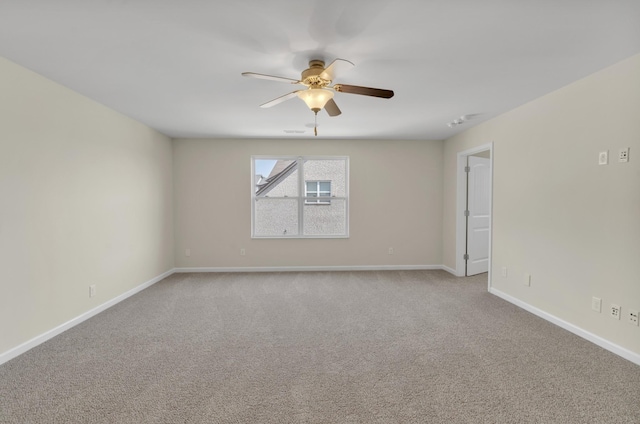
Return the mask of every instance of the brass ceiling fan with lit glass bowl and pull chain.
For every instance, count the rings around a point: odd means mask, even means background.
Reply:
[[[344,69],[350,69],[355,66],[352,62],[345,59],[335,59],[325,68],[324,61],[322,60],[310,60],[309,68],[302,71],[300,79],[276,77],[272,75],[257,74],[255,72],[243,72],[242,75],[251,78],[260,78],[272,81],[286,82],[288,84],[300,84],[307,88],[292,91],[289,94],[277,97],[266,103],[260,105],[260,107],[271,107],[284,102],[285,100],[299,97],[302,99],[309,109],[311,109],[316,119],[318,112],[321,109],[325,109],[329,116],[338,116],[342,112],[338,105],[333,100],[334,92],[360,94],[363,96],[380,97],[383,99],[390,99],[393,97],[392,90],[385,90],[381,88],[361,87],[357,85],[347,84],[334,84],[333,79],[336,72]],[[318,135],[317,125],[314,128],[315,135]]]

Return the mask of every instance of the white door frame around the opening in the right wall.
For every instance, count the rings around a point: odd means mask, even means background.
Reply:
[[[467,208],[467,175],[464,168],[467,166],[467,157],[480,152],[489,151],[489,276],[488,287],[491,288],[491,257],[492,257],[492,241],[493,241],[493,142],[474,147],[472,149],[458,152],[458,161],[456,169],[456,276],[465,276],[464,253],[467,247],[467,221],[464,211]]]

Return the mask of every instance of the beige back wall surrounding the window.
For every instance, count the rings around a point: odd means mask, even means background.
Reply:
[[[440,265],[442,153],[441,141],[174,140],[176,266]],[[252,240],[252,155],[349,156],[350,238]]]

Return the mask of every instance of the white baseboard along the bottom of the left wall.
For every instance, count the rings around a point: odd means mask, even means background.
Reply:
[[[155,283],[157,283],[158,281],[167,278],[168,276],[170,276],[171,274],[173,274],[175,272],[175,268],[174,269],[170,269],[167,272],[164,272],[160,275],[158,275],[157,277],[152,278],[151,280],[147,281],[144,284],[139,285],[138,287],[135,287],[123,294],[121,294],[120,296],[114,297],[113,299],[103,303],[100,306],[96,306],[95,308],[65,322],[64,324],[60,324],[59,326],[40,334],[39,336],[34,337],[33,339],[22,343],[19,346],[14,347],[13,349],[9,349],[8,351],[0,354],[0,365],[4,364],[7,361],[10,361],[11,359],[22,355],[23,353],[25,353],[26,351],[33,349],[34,347],[38,346],[39,344],[42,344],[44,342],[46,342],[49,339],[52,339],[53,337],[57,336],[58,334],[61,334],[65,331],[67,331],[68,329],[75,327],[76,325],[80,324],[83,321],[88,320],[89,318],[99,314],[100,312],[112,307],[113,305],[122,302],[123,300],[125,300],[126,298],[133,296],[134,294],[148,288],[151,287],[152,285],[154,285]]]

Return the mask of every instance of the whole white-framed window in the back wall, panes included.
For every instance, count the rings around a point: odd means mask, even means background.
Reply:
[[[251,236],[348,237],[348,157],[251,158]]]

